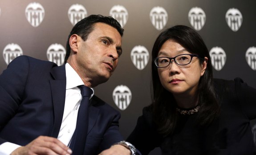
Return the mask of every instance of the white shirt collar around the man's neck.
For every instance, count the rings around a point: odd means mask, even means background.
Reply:
[[[66,90],[77,87],[78,85],[84,85],[84,82],[82,81],[81,77],[69,65],[69,63],[65,64],[65,70],[66,70],[66,79],[67,79]],[[94,95],[94,90],[93,90],[93,93],[92,93],[91,97],[93,97],[93,95]]]

